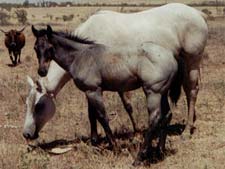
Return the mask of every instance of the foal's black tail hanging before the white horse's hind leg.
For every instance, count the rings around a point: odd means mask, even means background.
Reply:
[[[181,86],[183,84],[183,78],[184,78],[184,61],[182,57],[179,57],[177,59],[178,63],[178,71],[174,77],[174,80],[171,84],[169,96],[171,98],[171,101],[173,104],[177,104],[177,101],[181,95]]]

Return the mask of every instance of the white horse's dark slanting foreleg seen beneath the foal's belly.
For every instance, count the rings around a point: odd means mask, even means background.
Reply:
[[[124,92],[119,92],[119,96],[123,102],[123,106],[124,106],[125,110],[127,111],[128,115],[130,117],[134,132],[137,132],[136,124],[135,124],[134,118],[132,116],[133,108],[132,108],[131,104],[129,103],[129,99],[126,96],[126,93],[124,93]]]

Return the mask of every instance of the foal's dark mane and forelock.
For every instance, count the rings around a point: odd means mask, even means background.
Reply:
[[[79,43],[83,43],[83,44],[95,44],[94,41],[89,40],[88,38],[84,38],[84,37],[80,37],[78,35],[74,35],[70,31],[67,31],[67,32],[64,32],[64,31],[53,31],[52,33],[54,35],[61,36],[63,38],[66,38],[66,39],[69,39],[69,40],[72,40],[72,41],[75,41],[75,42],[79,42]],[[47,30],[45,30],[45,29],[39,30],[39,36],[44,36],[46,34],[47,34]]]

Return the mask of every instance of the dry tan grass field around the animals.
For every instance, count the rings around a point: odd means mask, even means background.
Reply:
[[[28,22],[50,23],[57,30],[73,30],[89,15],[101,7],[28,8]],[[105,9],[105,8],[104,8]],[[110,7],[112,10],[135,11],[131,8]],[[143,8],[144,9],[144,8]],[[216,11],[214,8],[210,8]],[[138,9],[138,10],[141,10]],[[11,11],[13,12],[13,10]],[[214,12],[215,13],[215,12]],[[71,21],[64,22],[62,15],[74,14]],[[216,13],[215,13],[216,15]],[[52,16],[52,17],[50,17]],[[56,19],[58,17],[58,19]],[[60,18],[61,17],[61,18]],[[190,140],[180,135],[167,139],[167,153],[163,161],[141,169],[224,169],[225,168],[225,18],[208,21],[210,36],[201,68],[201,85],[196,105],[197,130]],[[4,30],[21,28],[20,25],[1,26]],[[24,100],[29,86],[26,76],[37,79],[37,59],[33,50],[34,37],[30,26],[25,29],[26,45],[22,50],[22,63],[9,67],[11,63],[4,46],[4,34],[0,33],[0,168],[1,169],[132,169],[142,137],[125,135],[132,132],[131,122],[116,93],[104,94],[110,126],[117,133],[121,153],[93,147],[88,137],[90,127],[85,96],[69,82],[56,98],[57,112],[44,127],[40,138],[32,149],[22,137],[25,117]],[[139,128],[147,126],[148,113],[141,90],[132,92],[134,117]],[[172,124],[182,124],[187,107],[184,95],[177,108],[172,109]],[[99,133],[104,136],[99,126]],[[118,133],[125,133],[120,135]],[[124,136],[124,137],[123,137]],[[72,147],[60,155],[49,152],[50,148]]]

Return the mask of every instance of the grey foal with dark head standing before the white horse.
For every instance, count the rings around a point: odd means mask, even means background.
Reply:
[[[149,129],[136,163],[144,160],[156,130],[163,130],[161,125],[169,112],[168,90],[179,72],[173,52],[152,42],[108,47],[64,32],[54,32],[50,26],[47,30],[32,26],[32,31],[36,37],[34,49],[39,74],[46,76],[48,65],[54,60],[71,75],[76,86],[85,92],[89,115],[100,122],[111,147],[116,142],[106,116],[103,91],[126,92],[143,88],[150,115]],[[90,119],[90,123],[92,126],[94,121]],[[161,138],[160,148],[163,147],[161,142],[165,144],[165,138]]]

